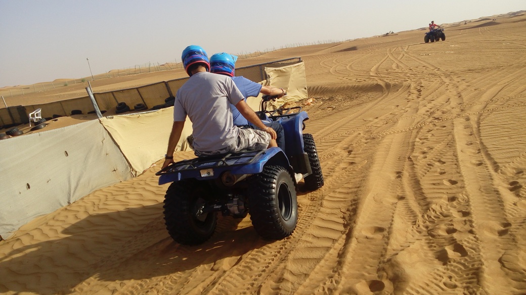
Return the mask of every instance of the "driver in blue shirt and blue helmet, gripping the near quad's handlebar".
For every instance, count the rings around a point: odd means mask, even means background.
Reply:
[[[245,97],[245,101],[248,97],[257,97],[259,93],[265,94],[267,96],[272,96],[276,98],[281,98],[286,95],[287,92],[283,88],[276,88],[272,86],[262,86],[259,83],[250,81],[249,79],[243,76],[234,76],[236,68],[237,56],[227,54],[226,52],[220,52],[214,54],[210,57],[210,72],[218,73],[220,75],[225,75],[231,77],[234,80],[239,91]],[[230,110],[232,111],[232,116],[234,118],[234,125],[241,129],[251,128],[258,129],[254,125],[251,125],[245,117],[239,113],[236,106],[230,103]],[[270,127],[276,131],[277,138],[276,142],[278,147],[281,150],[285,151],[285,132],[283,126],[277,121],[263,122],[265,126]]]

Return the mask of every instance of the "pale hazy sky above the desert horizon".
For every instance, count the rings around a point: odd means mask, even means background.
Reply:
[[[524,0],[0,0],[0,87],[180,62],[188,45],[240,54],[519,10]]]

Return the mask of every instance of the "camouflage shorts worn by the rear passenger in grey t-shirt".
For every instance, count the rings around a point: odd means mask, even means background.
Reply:
[[[265,150],[270,143],[270,134],[261,130],[240,129],[237,140],[224,149],[210,152],[194,150],[196,156],[211,156],[227,153],[237,153],[241,150]]]

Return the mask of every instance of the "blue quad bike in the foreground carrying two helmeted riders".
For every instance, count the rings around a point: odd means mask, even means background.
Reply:
[[[266,103],[273,99],[264,96],[257,114],[264,123],[281,123],[286,151],[270,148],[197,157],[156,173],[159,185],[171,182],[164,219],[177,243],[198,245],[208,240],[216,229],[218,212],[234,218],[250,213],[254,229],[268,240],[286,238],[295,230],[296,178],[302,176],[304,188],[313,191],[323,186],[323,174],[314,139],[302,132],[307,112],[301,107],[266,111]]]

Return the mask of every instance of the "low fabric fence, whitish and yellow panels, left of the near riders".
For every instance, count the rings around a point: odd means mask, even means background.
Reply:
[[[0,141],[0,236],[147,170],[166,153],[173,112],[109,116]],[[187,120],[176,151],[189,149],[190,134]]]

